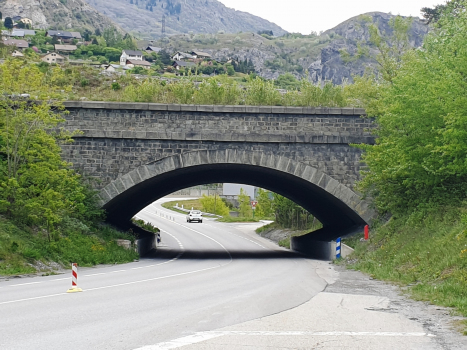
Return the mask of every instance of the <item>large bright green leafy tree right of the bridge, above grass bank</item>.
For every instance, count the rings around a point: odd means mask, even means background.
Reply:
[[[465,4],[465,2],[462,2]],[[455,203],[467,191],[467,14],[439,20],[421,50],[378,93],[377,143],[365,150],[360,189],[381,212]]]

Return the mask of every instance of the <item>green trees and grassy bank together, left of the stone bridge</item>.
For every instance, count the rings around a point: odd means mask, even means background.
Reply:
[[[113,242],[127,235],[99,225],[103,212],[95,192],[60,157],[59,144],[72,137],[57,130],[60,101],[70,90],[65,72],[7,60],[0,76],[0,273],[32,272],[28,262],[34,260],[90,265],[135,259],[134,251]]]

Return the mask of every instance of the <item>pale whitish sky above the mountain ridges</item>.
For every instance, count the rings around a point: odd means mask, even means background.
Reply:
[[[281,26],[288,32],[310,34],[324,31],[366,12],[421,17],[422,7],[445,0],[219,0],[227,7],[249,12]],[[277,4],[277,5],[276,5]]]

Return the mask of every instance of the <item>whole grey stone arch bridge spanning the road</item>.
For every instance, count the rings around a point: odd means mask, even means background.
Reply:
[[[195,106],[68,101],[64,128],[81,130],[64,158],[99,179],[108,221],[130,219],[186,187],[233,182],[280,193],[322,223],[330,241],[374,215],[354,191],[360,155],[373,143],[362,109]]]

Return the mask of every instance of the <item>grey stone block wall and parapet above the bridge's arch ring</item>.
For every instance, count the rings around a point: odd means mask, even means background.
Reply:
[[[100,102],[67,102],[66,107],[70,113],[63,126],[83,134],[62,146],[64,158],[98,177],[100,187],[174,154],[238,149],[301,161],[352,188],[361,152],[349,143],[373,142],[372,120],[354,109]]]

